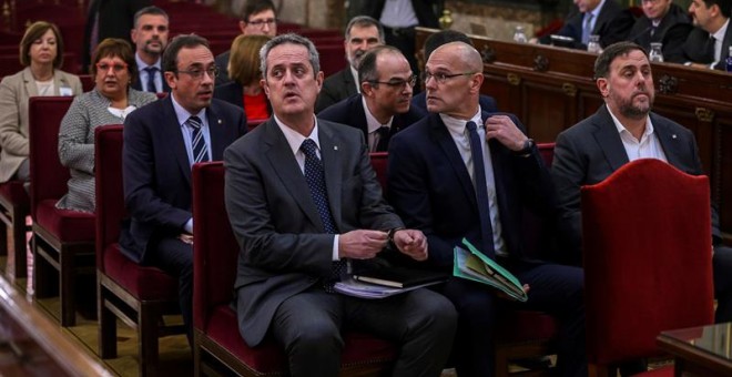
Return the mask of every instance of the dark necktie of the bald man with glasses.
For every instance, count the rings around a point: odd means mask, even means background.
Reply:
[[[475,122],[465,125],[470,136],[470,154],[472,155],[472,179],[478,200],[478,215],[480,217],[480,237],[482,238],[482,254],[489,258],[496,255],[494,247],[494,227],[490,224],[490,202],[486,186],[486,166],[482,161],[482,140],[478,134]]]

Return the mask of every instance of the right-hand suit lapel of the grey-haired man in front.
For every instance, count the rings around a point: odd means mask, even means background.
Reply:
[[[340,153],[345,145],[339,145],[336,141],[333,130],[329,124],[324,121],[318,122],[318,140],[321,142],[321,159],[323,160],[323,167],[325,170],[325,187],[328,193],[328,204],[331,205],[331,214],[333,221],[338,230],[342,228],[340,224],[340,185],[343,182],[343,159]],[[319,216],[319,215],[318,215]]]

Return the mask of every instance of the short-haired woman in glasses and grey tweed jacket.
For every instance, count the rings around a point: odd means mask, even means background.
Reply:
[[[130,88],[138,68],[128,41],[103,40],[92,62],[95,86],[73,100],[59,131],[59,157],[71,171],[69,192],[57,203],[63,210],[94,212],[94,129],[122,124],[132,111],[157,99]]]

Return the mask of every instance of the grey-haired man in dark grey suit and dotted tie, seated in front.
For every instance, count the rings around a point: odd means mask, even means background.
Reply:
[[[272,336],[292,376],[337,376],[340,329],[358,328],[396,343],[394,376],[439,376],[457,317],[449,300],[424,288],[385,299],[333,291],[346,261],[374,258],[389,242],[385,253],[426,259],[425,235],[384,202],[363,134],[315,118],[315,45],[284,34],[262,55],[273,118],[224,153],[226,210],[242,247],[242,337],[254,347]]]

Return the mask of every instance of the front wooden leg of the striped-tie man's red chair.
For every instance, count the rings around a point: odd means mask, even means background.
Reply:
[[[140,376],[157,375],[157,330],[160,312],[155,305],[141,303],[138,312],[138,343],[140,346]]]

